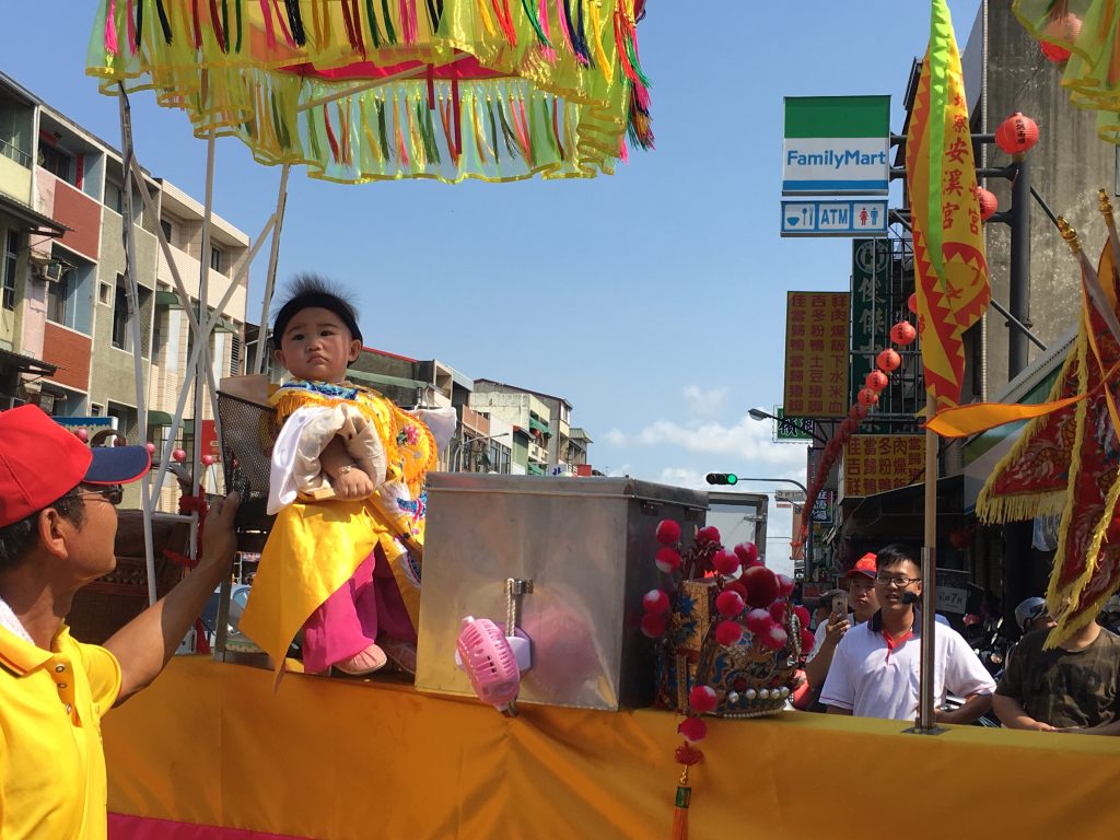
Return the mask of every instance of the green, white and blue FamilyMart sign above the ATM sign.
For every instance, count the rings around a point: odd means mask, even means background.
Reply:
[[[889,96],[786,96],[782,195],[886,195]]]

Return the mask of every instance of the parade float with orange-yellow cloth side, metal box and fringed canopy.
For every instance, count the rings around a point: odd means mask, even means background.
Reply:
[[[101,0],[88,71],[120,97],[127,172],[139,172],[127,93],[140,88],[185,110],[206,141],[207,197],[218,136],[281,168],[256,240],[272,234],[265,324],[293,166],[355,184],[590,177],[612,171],[627,138],[648,146],[643,7]],[[178,277],[176,290],[190,314]],[[216,316],[190,319],[205,337]],[[197,399],[217,392],[206,345],[192,351]],[[146,489],[147,522],[162,480]],[[202,497],[195,479],[189,498]],[[112,837],[1112,831],[1094,804],[1120,772],[1111,741],[786,711],[804,615],[749,547],[719,544],[703,494],[437,474],[428,503],[416,678],[320,678],[293,663],[277,684],[271,668],[221,652],[177,657],[104,721]],[[877,794],[872,773],[907,784]]]

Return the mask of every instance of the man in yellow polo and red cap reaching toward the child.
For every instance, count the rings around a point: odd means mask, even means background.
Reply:
[[[74,594],[113,570],[122,485],[146,447],[90,449],[34,405],[0,412],[0,837],[105,837],[101,717],[150,683],[231,570],[237,498],[197,568],[103,647],[71,637]]]

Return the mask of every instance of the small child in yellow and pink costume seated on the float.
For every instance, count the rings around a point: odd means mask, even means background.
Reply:
[[[437,441],[424,420],[346,381],[362,352],[354,308],[315,277],[298,278],[272,329],[295,377],[269,402],[269,534],[241,632],[273,661],[304,631],[304,670],[414,669],[424,475]],[[419,413],[419,412],[418,412]],[[454,409],[424,412],[444,442]]]

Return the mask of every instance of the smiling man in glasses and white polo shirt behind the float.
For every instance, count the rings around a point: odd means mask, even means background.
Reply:
[[[914,608],[922,595],[917,556],[888,545],[875,558],[879,610],[849,631],[837,646],[821,690],[832,715],[914,720],[921,674],[921,620]],[[934,625],[934,688],[937,706],[948,692],[965,698],[953,711],[939,710],[942,724],[971,724],[991,708],[996,683],[968,642],[948,625]]]

